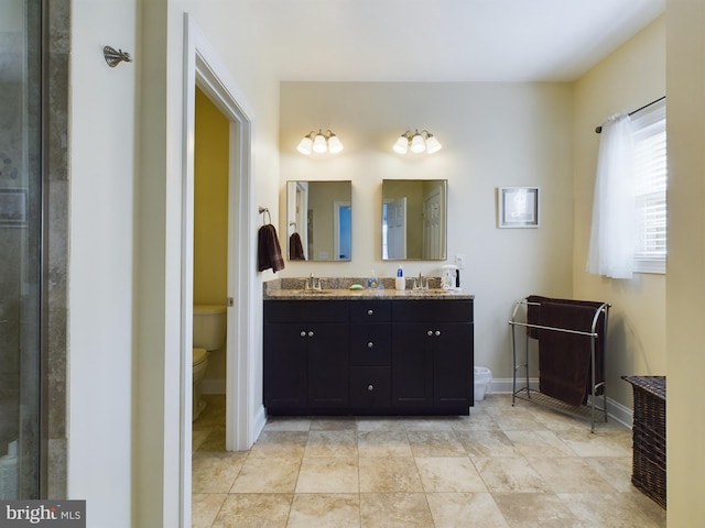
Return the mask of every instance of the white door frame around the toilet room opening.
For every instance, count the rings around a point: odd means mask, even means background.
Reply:
[[[196,85],[230,122],[228,176],[228,306],[226,351],[226,450],[246,450],[254,440],[251,393],[254,365],[252,298],[252,119],[253,111],[230,78],[194,20],[184,13],[184,120],[182,166],[182,353],[181,353],[181,519],[191,526],[192,400],[193,400],[193,252],[194,252],[194,136]]]

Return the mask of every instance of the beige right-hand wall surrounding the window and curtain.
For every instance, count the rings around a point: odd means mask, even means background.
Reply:
[[[620,375],[665,373],[665,275],[636,274],[631,280],[616,280],[585,271],[599,146],[595,127],[614,113],[634,110],[664,95],[664,16],[575,84],[573,294],[612,305],[607,391],[628,408],[632,406],[631,385]]]

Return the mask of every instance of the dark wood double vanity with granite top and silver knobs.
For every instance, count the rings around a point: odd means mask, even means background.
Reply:
[[[468,415],[473,296],[279,289],[264,297],[270,415]]]

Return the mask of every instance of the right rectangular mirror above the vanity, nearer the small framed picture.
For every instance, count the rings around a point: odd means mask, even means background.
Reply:
[[[382,260],[444,261],[447,179],[382,180]]]

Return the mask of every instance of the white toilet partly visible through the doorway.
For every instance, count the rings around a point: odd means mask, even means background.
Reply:
[[[226,322],[225,306],[194,305],[193,420],[206,407],[200,397],[200,383],[206,375],[209,352],[218,350],[225,342]]]

